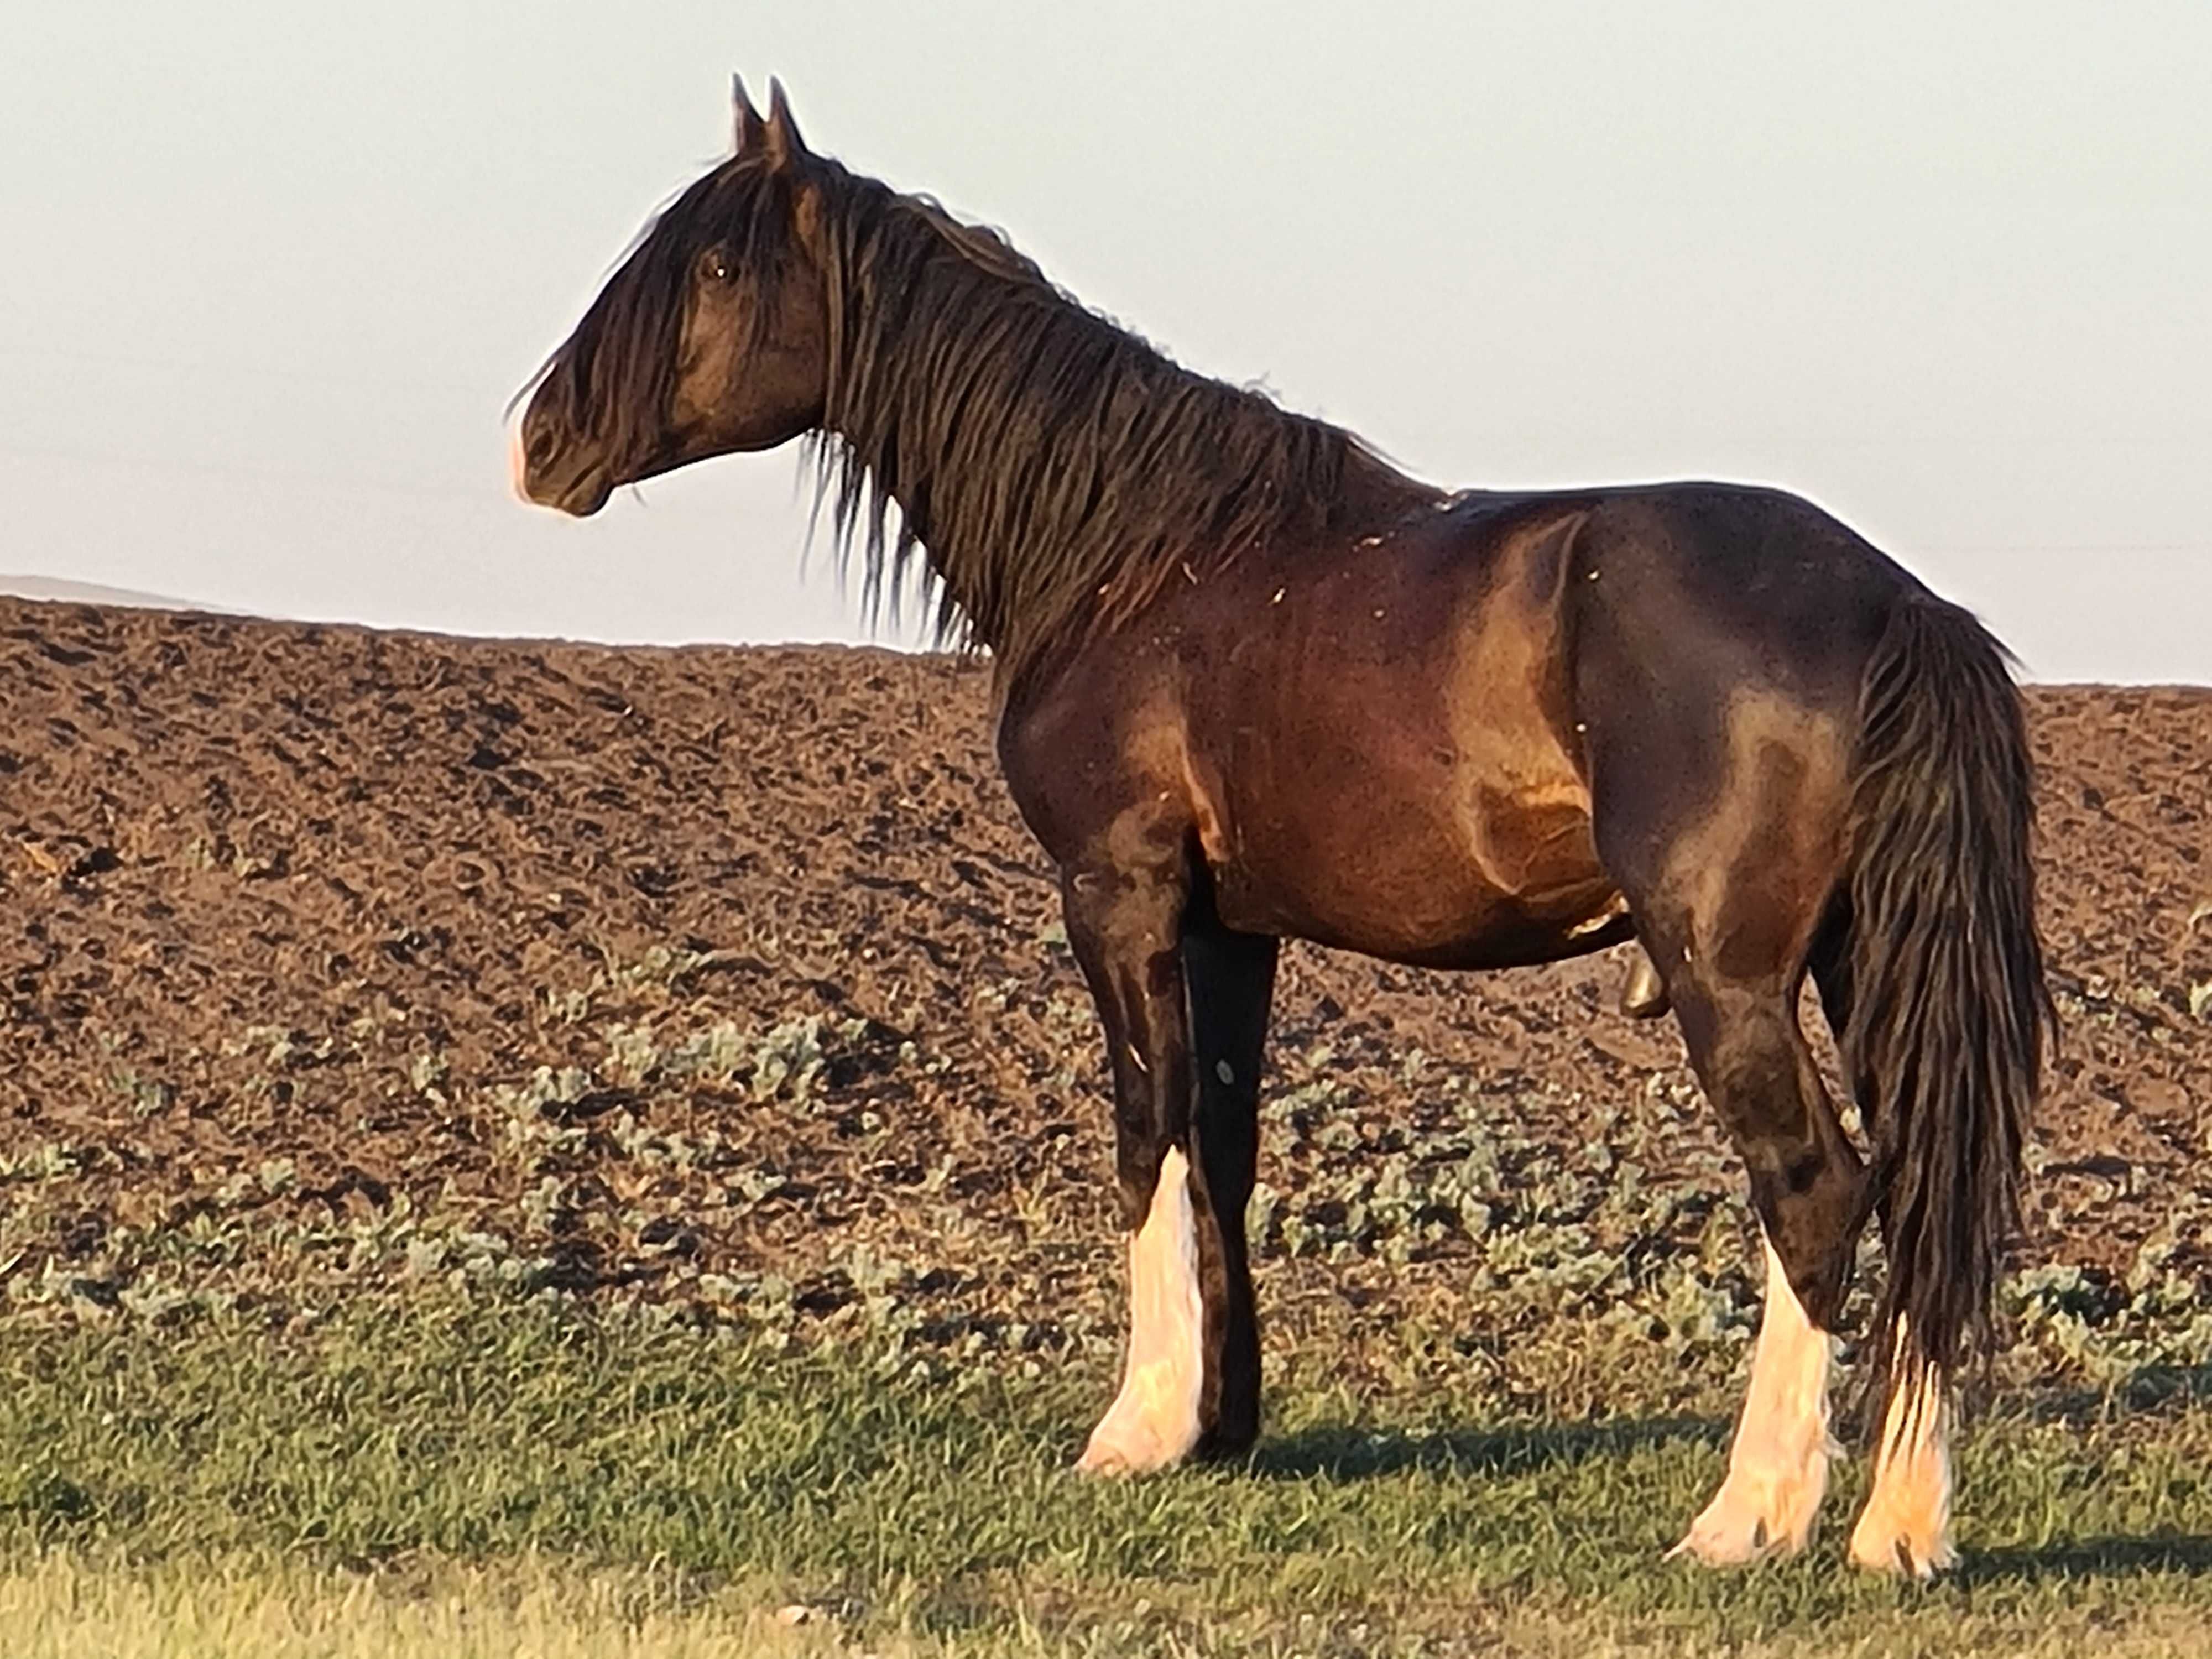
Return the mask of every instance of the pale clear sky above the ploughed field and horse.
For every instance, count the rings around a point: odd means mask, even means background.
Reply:
[[[1451,487],[1812,495],[2035,679],[2212,681],[2212,4],[20,4],[0,573],[858,639],[796,456],[507,495],[500,409],[781,75],[1183,363]]]

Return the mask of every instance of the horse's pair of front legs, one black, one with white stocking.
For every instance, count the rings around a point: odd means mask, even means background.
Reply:
[[[1077,1467],[1241,1451],[1259,1431],[1243,1208],[1274,940],[1221,929],[1181,858],[1071,869],[1062,898],[1106,1026],[1130,1301],[1121,1391]]]

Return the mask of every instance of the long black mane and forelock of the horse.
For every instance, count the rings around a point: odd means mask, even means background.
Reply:
[[[555,365],[564,411],[657,427],[692,259],[721,243],[763,283],[790,272],[801,190],[830,301],[816,509],[838,557],[860,553],[872,619],[927,551],[938,641],[1020,675],[1170,582],[1329,531],[1360,480],[1391,478],[1352,434],[1086,310],[998,232],[821,157],[739,157],[670,204]]]

